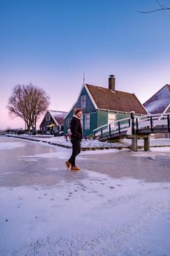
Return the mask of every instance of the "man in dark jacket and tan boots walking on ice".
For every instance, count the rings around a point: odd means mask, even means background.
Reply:
[[[79,167],[75,164],[75,159],[81,151],[81,140],[82,140],[82,124],[81,119],[82,110],[81,108],[74,109],[74,115],[72,117],[72,121],[70,123],[70,130],[72,132],[71,135],[71,143],[72,143],[72,156],[66,161],[67,169],[72,171],[80,170]]]

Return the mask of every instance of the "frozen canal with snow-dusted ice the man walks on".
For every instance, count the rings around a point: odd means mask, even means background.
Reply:
[[[170,255],[170,148],[85,151],[0,137],[0,255]]]

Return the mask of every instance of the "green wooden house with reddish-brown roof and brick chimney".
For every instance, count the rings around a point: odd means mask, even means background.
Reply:
[[[130,116],[147,114],[135,94],[115,90],[115,77],[110,75],[109,88],[84,83],[74,106],[64,118],[65,132],[72,120],[74,108],[82,108],[83,135],[93,134],[93,129],[104,124],[114,125],[115,121]]]

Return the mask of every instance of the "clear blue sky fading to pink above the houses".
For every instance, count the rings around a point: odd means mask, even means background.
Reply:
[[[170,0],[160,0],[170,7]],[[7,112],[18,83],[69,110],[85,82],[136,94],[144,103],[170,83],[170,11],[156,0],[0,0],[0,129],[23,126]]]

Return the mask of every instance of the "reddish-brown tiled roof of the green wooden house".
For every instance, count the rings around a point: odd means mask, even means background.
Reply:
[[[86,84],[98,109],[115,110],[121,112],[134,111],[139,114],[147,114],[135,94],[124,91],[112,91],[110,89]]]

